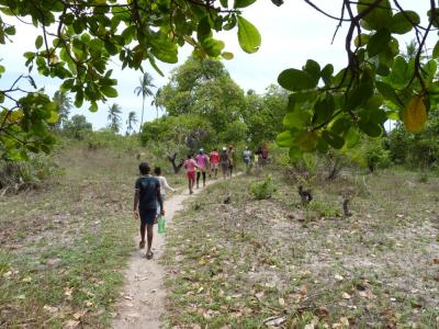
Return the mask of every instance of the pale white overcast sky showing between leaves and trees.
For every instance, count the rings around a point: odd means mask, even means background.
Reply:
[[[341,0],[315,0],[319,8],[333,15],[338,16],[341,9]],[[404,8],[417,10],[425,13],[428,8],[427,0],[403,0],[399,1]],[[328,19],[311,8],[303,0],[284,0],[284,4],[277,7],[270,0],[258,0],[252,5],[244,10],[244,16],[257,26],[261,36],[261,47],[256,54],[246,54],[240,49],[237,39],[237,30],[222,32],[216,35],[225,42],[225,50],[234,53],[232,60],[224,60],[230,77],[244,89],[254,89],[258,93],[263,93],[264,89],[277,83],[279,73],[286,68],[301,68],[307,59],[314,59],[325,66],[330,63],[335,69],[341,69],[347,64],[345,52],[345,35],[347,24],[341,26],[331,43],[334,32],[338,21]],[[12,21],[10,21],[12,22]],[[16,23],[16,22],[13,22]],[[24,67],[23,53],[35,48],[34,42],[38,34],[32,25],[16,23],[16,35],[13,43],[3,46],[0,55],[2,65],[7,67],[7,72],[0,79],[0,89],[8,89],[20,73],[27,73]],[[408,42],[414,35],[406,38]],[[399,43],[404,45],[404,41]],[[191,49],[183,47],[179,52],[179,64],[169,65],[158,61],[165,77],[160,77],[150,66],[145,64],[144,69],[153,75],[155,86],[161,87],[169,81],[169,72],[172,68],[184,63]],[[117,79],[119,97],[109,99],[108,103],[100,103],[99,111],[91,113],[86,104],[81,109],[74,109],[71,115],[83,114],[93,124],[94,129],[105,127],[106,110],[109,105],[117,103],[123,110],[123,123],[125,124],[128,112],[135,111],[140,117],[142,97],[134,94],[134,89],[139,84],[140,71],[121,69],[117,58],[112,60],[114,69],[113,77]],[[59,87],[60,81],[48,79],[32,72],[38,88],[44,87],[48,94],[53,94]],[[23,84],[24,87],[24,84]],[[156,109],[150,105],[151,99],[147,99],[145,104],[146,121],[156,117]],[[161,115],[159,113],[159,115]],[[123,129],[124,131],[124,129]]]

